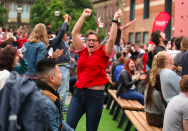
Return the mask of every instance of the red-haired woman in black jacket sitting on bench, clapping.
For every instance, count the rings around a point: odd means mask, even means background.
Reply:
[[[140,80],[146,78],[146,75],[140,77],[140,73],[134,76],[135,63],[132,59],[125,61],[124,69],[119,76],[120,94],[116,93],[117,97],[120,96],[123,99],[137,100],[140,104],[144,105],[144,96],[135,91],[135,84],[138,84]],[[117,90],[117,92],[118,92]]]

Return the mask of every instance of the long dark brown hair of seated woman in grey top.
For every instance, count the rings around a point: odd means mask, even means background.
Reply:
[[[164,98],[163,98],[162,91],[161,91],[161,81],[160,81],[159,74],[156,75],[155,86],[151,86],[151,83],[149,83],[149,86],[147,88],[147,95],[146,95],[146,106],[151,107],[152,94],[153,94],[154,89],[156,89],[161,94],[161,99],[162,99],[162,102],[164,103]]]

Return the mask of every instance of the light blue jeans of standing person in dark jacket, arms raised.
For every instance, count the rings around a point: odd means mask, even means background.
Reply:
[[[69,92],[69,79],[70,79],[70,72],[69,68],[64,66],[58,66],[60,69],[60,72],[62,74],[62,85],[58,87],[58,92],[61,96],[61,106],[62,110],[64,111],[66,109],[65,106],[65,100],[67,98],[67,94]]]

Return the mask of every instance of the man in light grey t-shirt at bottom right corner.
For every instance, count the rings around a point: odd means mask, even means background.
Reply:
[[[181,93],[168,103],[164,116],[163,131],[188,130],[188,75],[180,81]]]

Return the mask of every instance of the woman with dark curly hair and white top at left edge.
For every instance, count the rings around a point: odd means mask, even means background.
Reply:
[[[0,90],[6,83],[14,66],[18,65],[18,53],[15,47],[5,47],[0,50]]]

